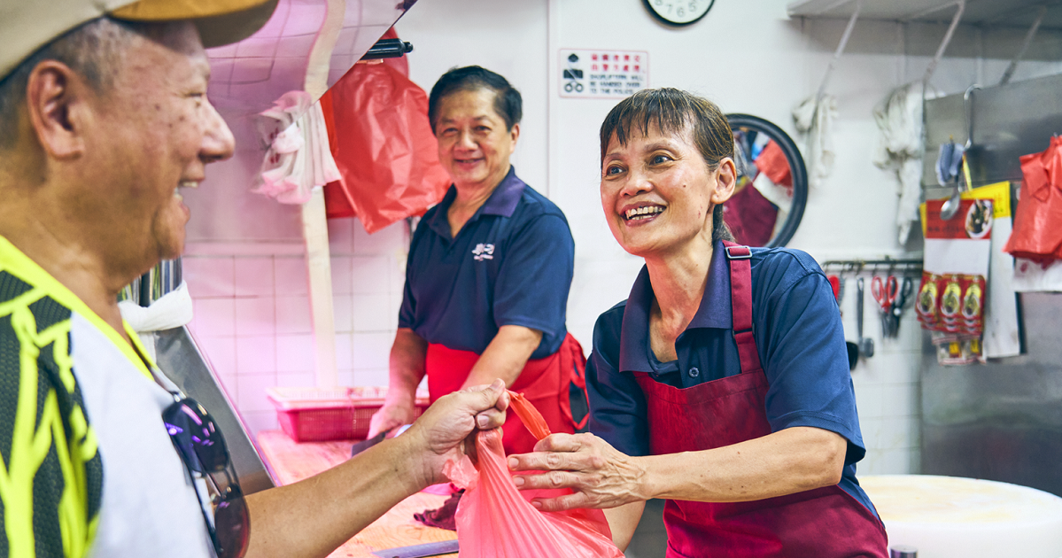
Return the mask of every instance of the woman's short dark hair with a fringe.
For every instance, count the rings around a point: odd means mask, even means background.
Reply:
[[[626,146],[632,134],[648,135],[653,124],[664,134],[683,134],[689,130],[693,145],[712,170],[724,157],[734,157],[734,132],[716,103],[681,89],[663,87],[643,89],[613,107],[601,123],[601,163],[613,135],[619,145]],[[723,222],[722,204],[716,205],[712,213],[712,238],[734,240]]]

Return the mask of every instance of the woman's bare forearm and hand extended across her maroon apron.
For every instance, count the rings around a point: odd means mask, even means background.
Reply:
[[[536,452],[509,458],[520,489],[571,488],[573,494],[536,500],[545,511],[612,508],[652,497],[748,502],[836,485],[847,441],[795,426],[755,440],[700,452],[630,457],[592,434],[554,434]]]

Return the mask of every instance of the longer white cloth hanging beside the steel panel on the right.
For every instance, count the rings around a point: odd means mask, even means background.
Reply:
[[[901,244],[907,243],[911,224],[919,219],[925,150],[922,100],[922,82],[914,82],[897,87],[874,108],[874,120],[881,131],[874,165],[895,174],[896,230]]]

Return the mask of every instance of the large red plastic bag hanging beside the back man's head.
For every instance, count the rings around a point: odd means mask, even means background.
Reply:
[[[321,98],[342,180],[325,186],[328,218],[365,231],[422,215],[450,184],[428,123],[428,96],[389,64],[355,64]]]

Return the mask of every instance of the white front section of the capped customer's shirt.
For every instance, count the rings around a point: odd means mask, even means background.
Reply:
[[[76,311],[71,322],[73,371],[103,459],[89,556],[212,558],[195,489],[162,423],[173,396]]]

